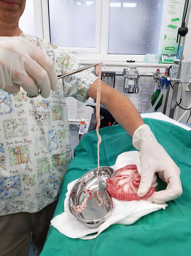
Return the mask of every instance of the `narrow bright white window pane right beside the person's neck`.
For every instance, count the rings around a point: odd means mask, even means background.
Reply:
[[[23,15],[20,17],[19,27],[23,32],[35,36],[34,7],[32,0],[26,0],[26,7]]]

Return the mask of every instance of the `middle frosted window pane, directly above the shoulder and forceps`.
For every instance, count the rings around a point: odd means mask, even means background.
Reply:
[[[95,47],[96,0],[50,0],[51,42],[60,47]]]

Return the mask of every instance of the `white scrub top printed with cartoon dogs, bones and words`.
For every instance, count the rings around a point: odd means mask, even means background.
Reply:
[[[22,33],[54,62],[58,75],[80,68],[56,45]],[[59,79],[50,97],[28,98],[0,90],[0,215],[38,212],[58,199],[71,160],[65,97],[85,102],[97,77],[90,70]]]

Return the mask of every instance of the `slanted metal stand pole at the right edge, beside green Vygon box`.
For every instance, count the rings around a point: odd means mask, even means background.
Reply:
[[[189,2],[189,8],[188,8],[188,12],[187,12],[186,27],[188,26],[188,21],[189,21],[189,16],[190,16],[190,9],[191,9],[191,0]],[[181,50],[180,60],[179,60],[179,65],[178,65],[177,79],[180,76],[180,68],[181,68],[181,62],[182,62],[182,59],[183,59],[183,51],[184,51],[185,40],[186,40],[186,36],[184,36],[183,42],[182,42],[182,50]],[[174,118],[176,100],[177,100],[177,96],[178,96],[178,87],[179,87],[179,83],[174,83],[174,90],[172,92],[171,107],[170,107],[170,113],[169,113],[169,117],[172,118],[172,119]]]

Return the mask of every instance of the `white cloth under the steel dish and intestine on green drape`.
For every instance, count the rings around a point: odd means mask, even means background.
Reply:
[[[139,174],[141,175],[138,151],[122,153],[117,157],[115,165],[111,167],[115,171],[121,167],[126,166],[127,164],[137,164]],[[68,184],[68,192],[66,193],[66,198],[64,201],[64,212],[57,215],[51,221],[52,226],[54,226],[56,229],[58,229],[59,232],[70,238],[80,238],[83,240],[93,239],[96,238],[103,230],[105,230],[112,224],[130,225],[135,223],[142,216],[162,208],[165,209],[166,206],[168,206],[166,203],[157,204],[149,202],[147,200],[119,201],[115,198],[112,198],[114,204],[114,211],[111,217],[103,224],[101,224],[98,228],[92,229],[77,221],[76,218],[69,211],[69,195],[76,181],[77,180]],[[86,236],[96,232],[96,235]]]

